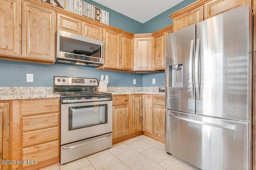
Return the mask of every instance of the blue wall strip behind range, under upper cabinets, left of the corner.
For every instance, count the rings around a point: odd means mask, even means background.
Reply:
[[[34,82],[26,82],[26,73],[34,74]],[[97,70],[94,67],[53,65],[28,63],[20,61],[0,60],[0,86],[52,87],[54,76],[92,77],[100,79],[108,75],[108,87],[142,87],[142,74]],[[133,85],[136,79],[136,85]]]

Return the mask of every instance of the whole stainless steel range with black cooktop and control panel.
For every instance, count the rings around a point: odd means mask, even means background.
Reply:
[[[54,77],[60,96],[60,164],[112,147],[112,94],[95,78]]]

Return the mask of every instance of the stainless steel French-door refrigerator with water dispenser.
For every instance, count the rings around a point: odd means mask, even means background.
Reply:
[[[165,150],[203,170],[252,169],[252,12],[166,36]]]

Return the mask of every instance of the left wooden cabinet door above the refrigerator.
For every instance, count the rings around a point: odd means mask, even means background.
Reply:
[[[201,5],[173,18],[173,31],[178,31],[186,26],[202,21],[204,19],[203,15],[203,5]]]

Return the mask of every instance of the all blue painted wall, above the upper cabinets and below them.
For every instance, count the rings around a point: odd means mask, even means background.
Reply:
[[[166,12],[156,16],[152,20],[142,24],[128,18],[114,10],[106,8],[92,0],[84,0],[94,6],[110,12],[110,26],[133,34],[151,33],[172,24],[169,15],[181,8],[195,2],[196,0],[184,0],[180,4],[170,8]],[[26,82],[26,73],[34,74],[34,82]],[[109,76],[109,87],[162,87],[164,83],[164,72],[150,74],[123,73],[116,71],[97,70],[92,67],[82,67],[76,65],[66,65],[54,63],[53,65],[27,63],[19,61],[0,60],[0,86],[43,86],[52,87],[54,76],[74,76],[74,77],[95,77],[100,79],[100,75]],[[133,85],[136,79],[136,85]],[[156,84],[152,84],[152,79],[156,79]]]

